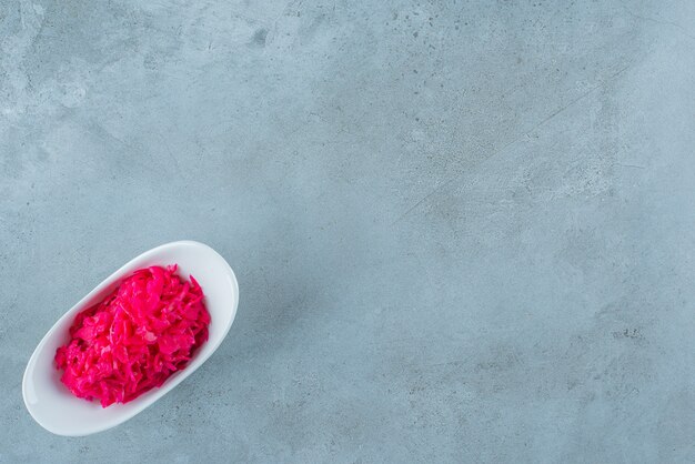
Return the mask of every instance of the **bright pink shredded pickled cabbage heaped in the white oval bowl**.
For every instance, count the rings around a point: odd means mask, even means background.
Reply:
[[[101,303],[79,313],[56,352],[61,381],[102,407],[128,403],[181,371],[207,340],[203,291],[177,265],[135,271]]]

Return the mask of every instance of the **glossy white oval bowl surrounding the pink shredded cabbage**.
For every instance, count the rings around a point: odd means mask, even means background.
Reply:
[[[159,389],[152,389],[127,404],[102,408],[98,401],[78,399],[60,382],[56,370],[56,350],[68,342],[69,327],[75,314],[109,294],[123,278],[150,265],[178,264],[178,273],[188,279],[193,274],[205,294],[210,312],[210,337],[195,353],[189,365],[170,376]],[[22,382],[24,404],[31,416],[46,430],[67,436],[82,436],[119,425],[167,394],[200,367],[220,346],[229,332],[239,304],[239,285],[230,265],[210,246],[192,241],[167,243],[142,253],[97,285],[72,306],[48,331],[34,350]]]

